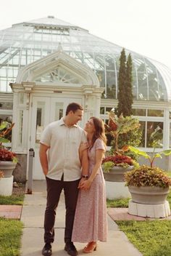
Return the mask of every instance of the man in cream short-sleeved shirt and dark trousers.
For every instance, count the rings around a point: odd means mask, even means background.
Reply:
[[[66,207],[64,249],[69,255],[78,255],[77,249],[71,242],[72,226],[78,199],[78,184],[88,177],[87,153],[84,153],[81,159],[82,170],[79,157],[80,143],[86,142],[85,132],[77,125],[82,117],[83,107],[78,103],[70,103],[64,118],[49,124],[41,136],[39,156],[47,185],[45,245],[42,250],[44,256],[52,254],[55,215],[62,189],[64,189]]]

